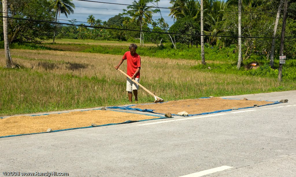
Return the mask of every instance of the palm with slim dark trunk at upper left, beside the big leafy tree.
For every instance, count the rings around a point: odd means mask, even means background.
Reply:
[[[75,9],[75,5],[72,3],[72,0],[49,0],[49,2],[52,4],[53,8],[57,11],[57,14],[65,14],[66,17],[68,18],[68,15],[70,13],[73,13]],[[57,23],[57,14],[56,14],[56,23]],[[55,30],[54,30],[54,38],[57,33],[57,25],[55,25]],[[53,43],[54,43],[54,38],[53,38]]]

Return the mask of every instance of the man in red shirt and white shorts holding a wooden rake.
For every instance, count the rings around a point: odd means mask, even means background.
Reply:
[[[140,81],[140,69],[141,69],[141,57],[136,53],[138,46],[136,44],[131,44],[129,51],[124,53],[122,59],[119,61],[119,64],[115,66],[115,69],[118,69],[119,66],[123,63],[124,60],[127,62],[127,72],[132,79],[135,79],[137,82]],[[126,91],[128,91],[128,100],[132,102],[133,94],[135,95],[135,101],[138,101],[138,89],[139,85],[132,82],[131,79],[126,77]],[[133,93],[132,93],[133,91]]]

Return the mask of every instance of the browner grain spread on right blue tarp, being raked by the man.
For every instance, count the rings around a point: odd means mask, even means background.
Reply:
[[[266,105],[274,102],[256,100],[231,100],[223,98],[199,98],[189,100],[168,101],[166,103],[143,104],[131,106],[131,108],[152,109],[155,113],[177,114],[186,111],[189,114],[208,113],[232,108],[246,108],[254,105]]]

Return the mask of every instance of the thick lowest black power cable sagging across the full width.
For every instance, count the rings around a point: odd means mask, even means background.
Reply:
[[[167,33],[167,32],[156,32],[156,31],[145,31],[145,30],[119,29],[119,28],[112,28],[112,27],[96,27],[96,26],[89,26],[89,25],[75,25],[75,24],[69,24],[69,23],[50,22],[50,21],[45,21],[45,20],[33,20],[33,19],[24,19],[24,18],[16,18],[16,17],[4,17],[4,16],[0,16],[0,17],[2,17],[2,18],[10,18],[10,19],[17,19],[17,20],[34,21],[34,22],[46,22],[46,23],[61,24],[61,25],[91,27],[91,28],[99,28],[99,29],[136,31],[136,32],[158,33],[158,34],[171,34],[171,35],[193,35],[193,36],[231,37],[231,38],[266,38],[266,39],[272,39],[273,38],[273,37],[254,37],[254,36],[229,36],[229,35],[201,35],[201,34],[186,34],[186,33]],[[275,37],[275,38],[280,38],[280,37]],[[296,37],[288,37],[288,38],[296,39]]]

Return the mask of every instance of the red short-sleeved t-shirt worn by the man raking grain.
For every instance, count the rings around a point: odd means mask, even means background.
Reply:
[[[126,60],[127,62],[128,69],[126,74],[130,77],[133,77],[133,74],[135,74],[136,70],[141,67],[141,57],[137,53],[132,56],[131,52],[127,51],[124,53],[122,59]],[[140,78],[140,71],[138,74],[136,74],[136,78]]]

